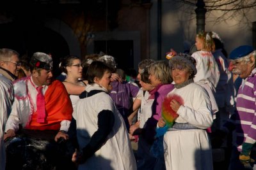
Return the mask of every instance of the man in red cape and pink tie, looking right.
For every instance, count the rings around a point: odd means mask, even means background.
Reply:
[[[51,56],[36,52],[29,65],[31,76],[13,82],[15,101],[4,140],[19,137],[20,132],[47,141],[68,139],[72,104],[63,83],[52,80]]]

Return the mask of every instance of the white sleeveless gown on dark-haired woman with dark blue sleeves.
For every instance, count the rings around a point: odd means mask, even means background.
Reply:
[[[102,90],[102,92],[80,99],[73,113],[77,124],[79,147],[84,148],[90,142],[95,131],[97,131],[97,121],[100,111],[112,111],[115,117],[115,123],[107,137],[106,143],[92,157],[87,159],[84,164],[80,164],[78,169],[135,170],[136,161],[122,116],[116,109],[109,94],[106,93],[106,89],[99,87],[97,84],[93,86],[87,85],[86,91],[90,92],[91,90]]]

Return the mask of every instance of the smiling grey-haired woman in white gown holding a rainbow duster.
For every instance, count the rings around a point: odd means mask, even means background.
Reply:
[[[162,111],[159,127],[170,125],[164,134],[166,169],[212,169],[212,153],[205,129],[212,125],[211,101],[205,89],[194,83],[195,59],[180,53],[169,60],[175,89],[169,92],[172,100],[163,104],[170,112]],[[176,115],[170,122],[168,117]]]

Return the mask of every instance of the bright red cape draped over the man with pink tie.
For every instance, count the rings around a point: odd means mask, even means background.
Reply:
[[[37,113],[33,113],[28,129],[34,130],[60,130],[60,122],[71,121],[73,108],[67,90],[58,80],[52,81],[45,92],[46,119],[38,123]]]

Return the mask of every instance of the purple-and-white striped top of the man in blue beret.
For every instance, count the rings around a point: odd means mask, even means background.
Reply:
[[[256,140],[256,69],[246,78],[237,93],[236,145],[241,151],[246,138]],[[251,139],[251,140],[252,140]]]

